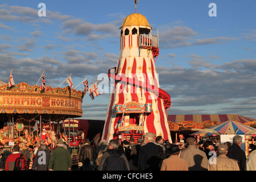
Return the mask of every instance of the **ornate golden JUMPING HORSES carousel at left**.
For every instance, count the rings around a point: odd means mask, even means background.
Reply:
[[[65,88],[42,88],[26,82],[9,86],[0,86],[0,143],[23,143],[26,146],[39,142],[43,124],[59,123],[67,118],[82,116],[81,103],[83,92]],[[38,123],[39,122],[39,123]],[[34,126],[36,134],[33,133]],[[48,127],[48,143],[51,142],[51,130]]]

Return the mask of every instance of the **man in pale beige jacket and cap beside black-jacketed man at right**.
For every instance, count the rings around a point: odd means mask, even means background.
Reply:
[[[228,146],[226,144],[218,145],[218,156],[210,163],[210,171],[240,171],[238,161],[228,158]]]

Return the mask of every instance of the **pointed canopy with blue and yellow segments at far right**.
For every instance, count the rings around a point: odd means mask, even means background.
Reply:
[[[223,135],[225,135],[225,134],[244,135],[244,134],[249,133],[250,131],[254,131],[254,130],[255,129],[253,127],[243,125],[242,123],[237,122],[237,121],[226,121],[224,123],[221,123],[220,125],[209,127],[206,130],[204,130],[204,129],[199,130],[196,133],[193,133],[192,135],[200,135],[201,133],[206,133],[209,136],[212,136],[213,134],[216,134],[216,133],[223,134]]]

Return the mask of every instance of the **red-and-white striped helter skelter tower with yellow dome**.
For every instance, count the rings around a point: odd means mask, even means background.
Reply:
[[[114,89],[102,139],[137,140],[151,132],[172,142],[166,115],[171,98],[159,88],[158,55],[158,35],[152,35],[146,17],[138,13],[127,16],[120,27],[117,67],[109,69]]]

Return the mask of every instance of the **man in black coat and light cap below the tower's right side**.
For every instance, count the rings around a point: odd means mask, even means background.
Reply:
[[[139,154],[139,168],[141,171],[159,171],[159,165],[156,164],[157,156],[162,151],[162,147],[154,143],[156,135],[154,133],[145,133],[143,135],[144,144],[141,146]]]

